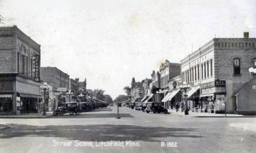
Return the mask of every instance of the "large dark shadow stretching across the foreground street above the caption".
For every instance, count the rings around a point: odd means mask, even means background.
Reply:
[[[14,137],[57,137],[80,141],[107,140],[144,140],[159,142],[155,138],[187,137],[201,138],[191,134],[193,128],[146,127],[133,125],[49,125],[32,126],[25,124],[9,124],[0,138]]]

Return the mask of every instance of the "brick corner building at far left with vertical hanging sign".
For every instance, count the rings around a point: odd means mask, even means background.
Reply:
[[[0,42],[0,114],[37,112],[40,45],[17,26],[0,27]]]

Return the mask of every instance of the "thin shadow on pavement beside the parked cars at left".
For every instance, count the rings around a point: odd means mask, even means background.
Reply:
[[[120,113],[120,118],[133,118],[131,114]],[[50,117],[50,118],[117,118],[117,113],[83,113],[79,115],[64,114],[63,116]]]

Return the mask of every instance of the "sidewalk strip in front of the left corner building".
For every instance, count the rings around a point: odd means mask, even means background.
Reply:
[[[13,119],[34,119],[34,118],[48,118],[53,116],[53,112],[46,112],[46,116],[43,113],[26,113],[20,115],[0,115],[0,118],[13,118]]]

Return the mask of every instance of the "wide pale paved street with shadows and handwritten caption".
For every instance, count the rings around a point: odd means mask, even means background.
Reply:
[[[121,107],[121,119],[117,119],[116,112],[117,108],[108,107],[78,116],[0,119],[0,124],[11,127],[0,131],[0,152],[241,153],[256,150],[255,132],[229,126],[255,118],[191,118],[147,114]]]

